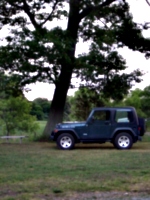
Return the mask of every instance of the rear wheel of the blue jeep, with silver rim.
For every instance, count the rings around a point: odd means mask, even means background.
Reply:
[[[114,139],[114,147],[117,149],[130,149],[132,144],[133,139],[129,133],[119,133]]]

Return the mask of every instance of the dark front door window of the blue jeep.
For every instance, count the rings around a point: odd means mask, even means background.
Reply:
[[[110,111],[105,111],[105,110],[95,111],[93,114],[93,119],[100,121],[110,120]]]

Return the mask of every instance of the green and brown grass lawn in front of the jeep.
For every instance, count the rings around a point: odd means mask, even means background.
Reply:
[[[62,199],[108,191],[147,193],[149,141],[147,135],[127,151],[109,143],[78,144],[71,151],[58,150],[55,143],[1,143],[0,199]]]

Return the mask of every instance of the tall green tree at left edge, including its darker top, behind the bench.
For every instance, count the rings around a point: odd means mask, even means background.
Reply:
[[[23,95],[19,75],[0,73],[0,123],[3,133],[34,132],[38,125],[30,115],[31,104]]]

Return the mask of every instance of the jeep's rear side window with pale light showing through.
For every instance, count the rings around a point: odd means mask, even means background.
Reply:
[[[133,122],[133,113],[131,110],[117,110],[115,114],[115,121],[117,123]]]

